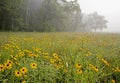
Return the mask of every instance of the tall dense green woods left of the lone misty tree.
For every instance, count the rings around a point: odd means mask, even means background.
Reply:
[[[66,31],[73,16],[80,14],[77,1],[0,0],[1,30]]]

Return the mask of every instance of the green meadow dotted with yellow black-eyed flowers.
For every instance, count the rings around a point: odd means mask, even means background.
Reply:
[[[120,83],[120,34],[0,32],[0,83]]]

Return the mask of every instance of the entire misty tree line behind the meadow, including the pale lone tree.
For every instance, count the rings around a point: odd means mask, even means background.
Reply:
[[[78,0],[0,0],[0,31],[96,31],[106,23],[82,14]]]

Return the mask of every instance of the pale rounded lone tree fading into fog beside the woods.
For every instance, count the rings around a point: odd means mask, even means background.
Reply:
[[[107,28],[108,21],[104,16],[99,15],[97,12],[91,14],[83,14],[82,25],[84,31],[102,30]]]

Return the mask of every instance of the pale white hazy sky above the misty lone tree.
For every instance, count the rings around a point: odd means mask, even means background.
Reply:
[[[82,13],[104,15],[109,21],[107,32],[120,32],[120,0],[78,0]]]

